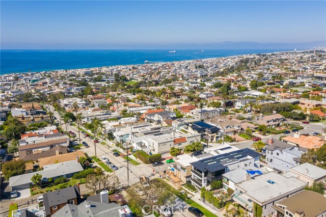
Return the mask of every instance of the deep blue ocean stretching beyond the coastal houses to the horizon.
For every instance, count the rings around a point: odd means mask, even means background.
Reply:
[[[220,50],[1,50],[1,74],[171,62],[270,53],[284,49]]]

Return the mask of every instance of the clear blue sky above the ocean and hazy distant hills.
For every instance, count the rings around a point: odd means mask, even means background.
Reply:
[[[1,1],[1,47],[326,40],[325,1]]]

